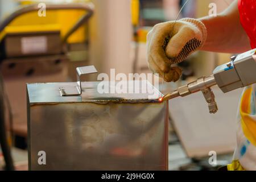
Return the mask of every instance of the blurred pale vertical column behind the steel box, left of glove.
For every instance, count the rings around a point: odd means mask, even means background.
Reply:
[[[90,21],[90,63],[99,73],[131,73],[132,40],[130,0],[93,0]]]

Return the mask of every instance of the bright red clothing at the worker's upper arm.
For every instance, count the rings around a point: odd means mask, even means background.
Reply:
[[[251,48],[256,48],[256,0],[238,0],[240,22],[250,38]]]

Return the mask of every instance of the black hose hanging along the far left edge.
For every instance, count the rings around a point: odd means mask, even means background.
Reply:
[[[5,158],[5,169],[7,171],[14,171],[13,158],[11,157],[11,150],[7,142],[6,126],[5,126],[5,97],[3,89],[3,80],[0,74],[0,144]]]

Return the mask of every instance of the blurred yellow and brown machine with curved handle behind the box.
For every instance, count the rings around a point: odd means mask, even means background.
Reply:
[[[26,2],[28,3],[28,2]],[[67,81],[68,45],[86,40],[92,3],[23,5],[0,24],[0,72],[16,136],[26,139],[27,82]],[[24,147],[24,146],[20,146]],[[26,146],[25,146],[26,147]]]

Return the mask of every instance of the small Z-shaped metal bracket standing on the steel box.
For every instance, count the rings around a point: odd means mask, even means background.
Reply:
[[[80,81],[80,76],[86,75],[89,73],[97,73],[96,68],[91,65],[88,67],[77,67],[76,68],[77,73],[77,85],[76,86],[64,86],[60,87],[60,94],[61,96],[80,96],[82,94],[82,86]]]

